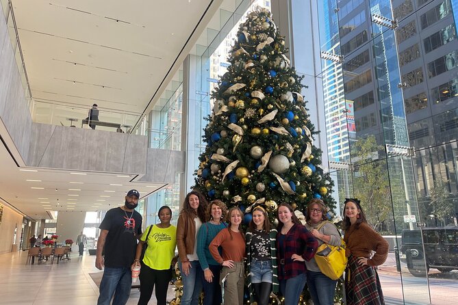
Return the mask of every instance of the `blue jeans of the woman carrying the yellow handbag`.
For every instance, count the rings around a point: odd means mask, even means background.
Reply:
[[[331,280],[321,272],[307,271],[307,287],[314,305],[333,305],[335,284],[337,280]]]

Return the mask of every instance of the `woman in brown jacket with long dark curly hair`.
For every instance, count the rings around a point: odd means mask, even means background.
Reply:
[[[177,223],[178,267],[183,279],[181,305],[199,304],[203,271],[197,256],[196,235],[205,222],[207,200],[199,191],[191,191],[183,203]]]

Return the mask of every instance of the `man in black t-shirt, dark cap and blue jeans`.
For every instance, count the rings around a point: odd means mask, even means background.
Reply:
[[[131,290],[130,266],[135,258],[137,239],[142,235],[142,215],[134,209],[140,194],[131,189],[125,205],[107,211],[99,228],[95,267],[103,269],[98,305],[125,305]],[[104,256],[102,256],[104,252]],[[115,293],[116,292],[116,293]]]

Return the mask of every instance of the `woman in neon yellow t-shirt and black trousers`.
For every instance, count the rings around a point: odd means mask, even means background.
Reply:
[[[172,268],[170,263],[175,256],[177,246],[177,228],[170,224],[172,210],[164,206],[159,209],[160,224],[151,225],[151,232],[148,235],[149,227],[144,230],[137,246],[136,260],[132,267],[140,265],[140,300],[138,305],[147,305],[153,294],[156,285],[157,305],[166,305],[168,283],[172,279]],[[140,254],[144,240],[148,235],[148,247],[144,252],[143,261],[140,262]]]

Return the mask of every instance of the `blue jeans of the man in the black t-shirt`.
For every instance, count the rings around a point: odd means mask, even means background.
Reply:
[[[129,300],[132,276],[130,267],[105,267],[100,282],[100,295],[97,305],[125,305]]]

